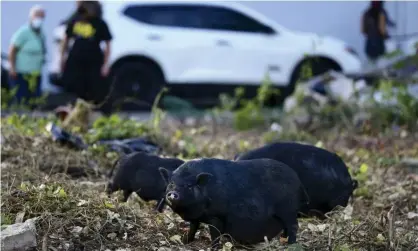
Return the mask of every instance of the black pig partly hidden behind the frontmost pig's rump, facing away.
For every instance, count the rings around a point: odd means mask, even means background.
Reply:
[[[351,178],[343,160],[322,148],[278,142],[235,157],[236,160],[259,158],[283,162],[296,171],[309,196],[309,205],[301,208],[305,216],[316,212],[322,218],[337,205],[347,206],[353,190],[357,188],[357,181]]]

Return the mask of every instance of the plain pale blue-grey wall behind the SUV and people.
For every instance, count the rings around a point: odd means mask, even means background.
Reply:
[[[43,5],[47,10],[44,29],[48,36],[48,47],[52,45],[53,28],[75,8],[73,1],[1,1],[2,52],[7,52],[10,37],[26,22],[29,8],[35,3]],[[369,5],[368,1],[243,1],[242,3],[273,18],[287,28],[338,37],[364,54],[363,38],[359,29],[360,16]],[[391,34],[418,32],[418,1],[390,1],[386,2],[385,7],[390,17],[398,24],[396,29],[391,30]],[[51,58],[51,54],[48,57]],[[44,76],[46,77],[46,71]],[[43,84],[50,89],[47,81]]]

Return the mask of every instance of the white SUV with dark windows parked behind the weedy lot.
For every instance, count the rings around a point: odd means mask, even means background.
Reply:
[[[237,86],[253,95],[266,74],[288,95],[308,58],[318,59],[314,75],[361,69],[343,41],[286,29],[238,3],[103,1],[102,8],[113,35],[115,96],[152,101],[167,85],[172,95],[213,104],[219,93]],[[64,27],[58,27],[56,41],[63,35]],[[55,57],[50,74],[57,73]]]

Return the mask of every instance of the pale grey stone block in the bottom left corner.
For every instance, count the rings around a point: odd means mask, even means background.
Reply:
[[[36,219],[7,226],[1,231],[2,251],[24,251],[36,247]]]

